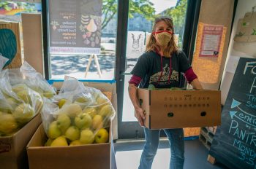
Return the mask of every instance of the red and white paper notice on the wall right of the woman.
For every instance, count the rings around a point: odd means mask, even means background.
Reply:
[[[218,58],[222,34],[221,25],[203,25],[199,57]]]

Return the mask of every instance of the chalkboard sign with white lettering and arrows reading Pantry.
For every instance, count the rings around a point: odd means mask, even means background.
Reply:
[[[256,169],[256,59],[238,62],[209,154],[228,168]]]

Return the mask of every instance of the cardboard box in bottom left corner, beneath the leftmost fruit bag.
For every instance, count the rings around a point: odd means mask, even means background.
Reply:
[[[41,122],[37,114],[14,135],[0,137],[0,168],[29,168],[26,145]]]

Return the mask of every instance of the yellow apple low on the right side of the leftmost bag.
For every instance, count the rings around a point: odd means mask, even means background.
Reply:
[[[34,109],[27,103],[21,103],[13,112],[17,122],[24,124],[34,117]]]

